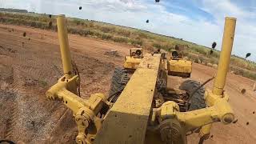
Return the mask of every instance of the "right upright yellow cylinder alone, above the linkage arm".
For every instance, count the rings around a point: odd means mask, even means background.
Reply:
[[[229,70],[230,55],[234,42],[236,18],[225,18],[224,33],[222,38],[222,51],[218,61],[218,71],[214,80],[213,93],[222,95],[226,83],[226,74]]]

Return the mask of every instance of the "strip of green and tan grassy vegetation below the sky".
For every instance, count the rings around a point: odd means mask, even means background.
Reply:
[[[52,16],[49,18],[46,14],[14,14],[0,12],[0,22],[57,31],[56,17]],[[144,30],[125,26],[114,26],[104,22],[95,22],[78,18],[68,18],[68,32],[89,38],[126,43],[131,46],[143,47],[147,50],[159,48],[171,51],[174,50],[175,45],[183,45],[188,47],[184,51],[184,55],[194,62],[202,64],[218,64],[218,50],[214,50],[214,53],[210,54],[209,47],[186,42],[183,41],[182,38],[173,38]],[[239,74],[256,80],[255,62],[246,61],[244,58],[238,58],[233,55],[231,57],[230,70],[234,71],[234,74]]]

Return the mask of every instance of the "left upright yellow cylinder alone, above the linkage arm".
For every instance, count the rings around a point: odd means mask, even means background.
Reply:
[[[58,26],[58,42],[61,47],[61,54],[62,54],[63,71],[65,74],[65,77],[69,79],[69,78],[72,78],[74,74],[72,74],[70,46],[69,46],[68,35],[67,35],[65,15],[58,15],[57,26]]]

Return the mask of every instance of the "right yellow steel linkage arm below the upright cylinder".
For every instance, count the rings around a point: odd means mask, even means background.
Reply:
[[[180,112],[176,102],[163,103],[160,108],[153,110],[152,121],[158,120],[159,122],[155,130],[160,132],[162,141],[186,144],[185,136],[190,131],[205,127],[203,130],[206,130],[207,133],[213,122],[222,122],[223,124],[233,122],[234,112],[227,102],[228,96],[226,93],[223,95],[224,98],[219,98],[210,90],[206,90],[206,99],[210,100],[212,106],[189,112]],[[172,135],[172,137],[170,138],[168,135]]]

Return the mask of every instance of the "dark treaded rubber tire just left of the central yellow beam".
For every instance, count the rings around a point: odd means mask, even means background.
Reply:
[[[127,82],[130,80],[127,70],[122,67],[116,67],[112,76],[109,100],[116,102],[122,90],[126,87]]]

